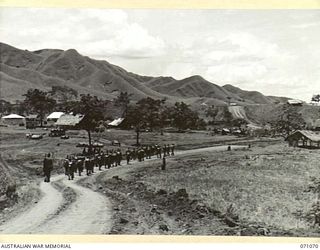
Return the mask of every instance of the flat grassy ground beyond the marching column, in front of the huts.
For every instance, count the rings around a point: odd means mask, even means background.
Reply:
[[[21,162],[23,164],[39,165],[38,161],[42,161],[45,153],[52,152],[55,157],[60,159],[67,154],[81,153],[82,149],[77,148],[79,142],[87,142],[87,133],[83,130],[67,131],[70,139],[63,140],[59,137],[49,137],[49,130],[41,128],[27,130],[24,128],[0,128],[0,148],[2,155],[6,160]],[[26,133],[44,134],[41,140],[27,139]],[[127,147],[132,147],[135,144],[135,132],[128,130],[111,129],[103,133],[93,133],[93,141],[102,142],[106,149],[118,147],[111,146],[112,140],[121,142],[121,148],[126,150]],[[214,145],[216,143],[237,141],[241,138],[236,136],[209,136],[206,132],[198,133],[160,133],[148,132],[141,133],[141,144],[171,144],[175,143],[177,149],[186,149],[193,147],[205,147],[206,145]]]

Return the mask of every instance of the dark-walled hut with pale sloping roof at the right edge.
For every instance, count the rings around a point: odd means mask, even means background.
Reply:
[[[310,130],[297,130],[290,134],[286,141],[289,146],[306,147],[306,148],[320,148],[320,133]]]

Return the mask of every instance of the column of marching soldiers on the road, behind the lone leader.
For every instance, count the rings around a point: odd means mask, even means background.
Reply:
[[[117,150],[107,150],[106,152],[100,151],[95,154],[88,154],[84,152],[81,155],[67,155],[63,160],[63,167],[65,174],[68,176],[69,180],[73,180],[75,173],[81,176],[82,172],[85,170],[87,176],[94,173],[94,168],[102,170],[110,169],[112,167],[121,166],[123,160],[129,165],[130,161],[138,160],[139,162],[145,159],[151,159],[152,156],[157,158],[163,158],[170,155],[174,155],[175,145],[166,144],[143,146],[139,148],[130,149],[128,148],[123,154],[121,149]]]

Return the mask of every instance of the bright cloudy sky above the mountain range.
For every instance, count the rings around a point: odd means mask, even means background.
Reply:
[[[1,42],[70,49],[148,76],[320,93],[320,10],[0,8]]]

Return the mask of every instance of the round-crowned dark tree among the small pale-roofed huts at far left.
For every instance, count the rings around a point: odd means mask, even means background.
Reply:
[[[27,94],[23,96],[25,96],[24,105],[39,115],[40,126],[42,127],[45,115],[53,110],[56,100],[51,98],[48,92],[39,89],[29,89]]]

